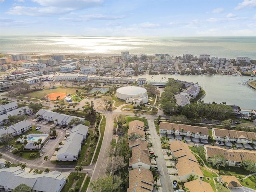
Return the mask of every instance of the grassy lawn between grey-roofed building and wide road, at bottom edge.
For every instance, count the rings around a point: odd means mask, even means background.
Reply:
[[[70,175],[68,176],[69,181],[64,185],[60,192],[67,192],[70,188],[75,188],[75,186],[78,186],[80,188],[86,174],[82,173],[81,176],[81,173],[78,172],[78,175],[79,176],[77,177],[76,172],[70,173]]]

